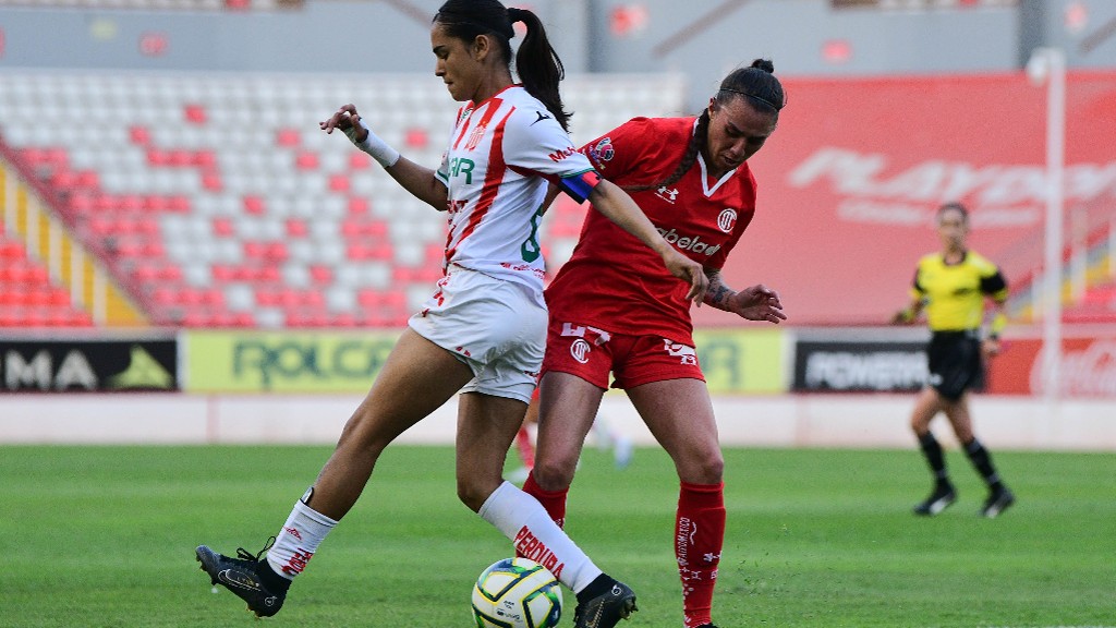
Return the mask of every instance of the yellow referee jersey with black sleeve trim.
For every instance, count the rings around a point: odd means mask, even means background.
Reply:
[[[974,251],[959,264],[945,264],[941,253],[932,253],[918,260],[911,296],[925,304],[932,331],[977,330],[984,320],[984,298],[1003,302],[1008,284],[995,264]]]

